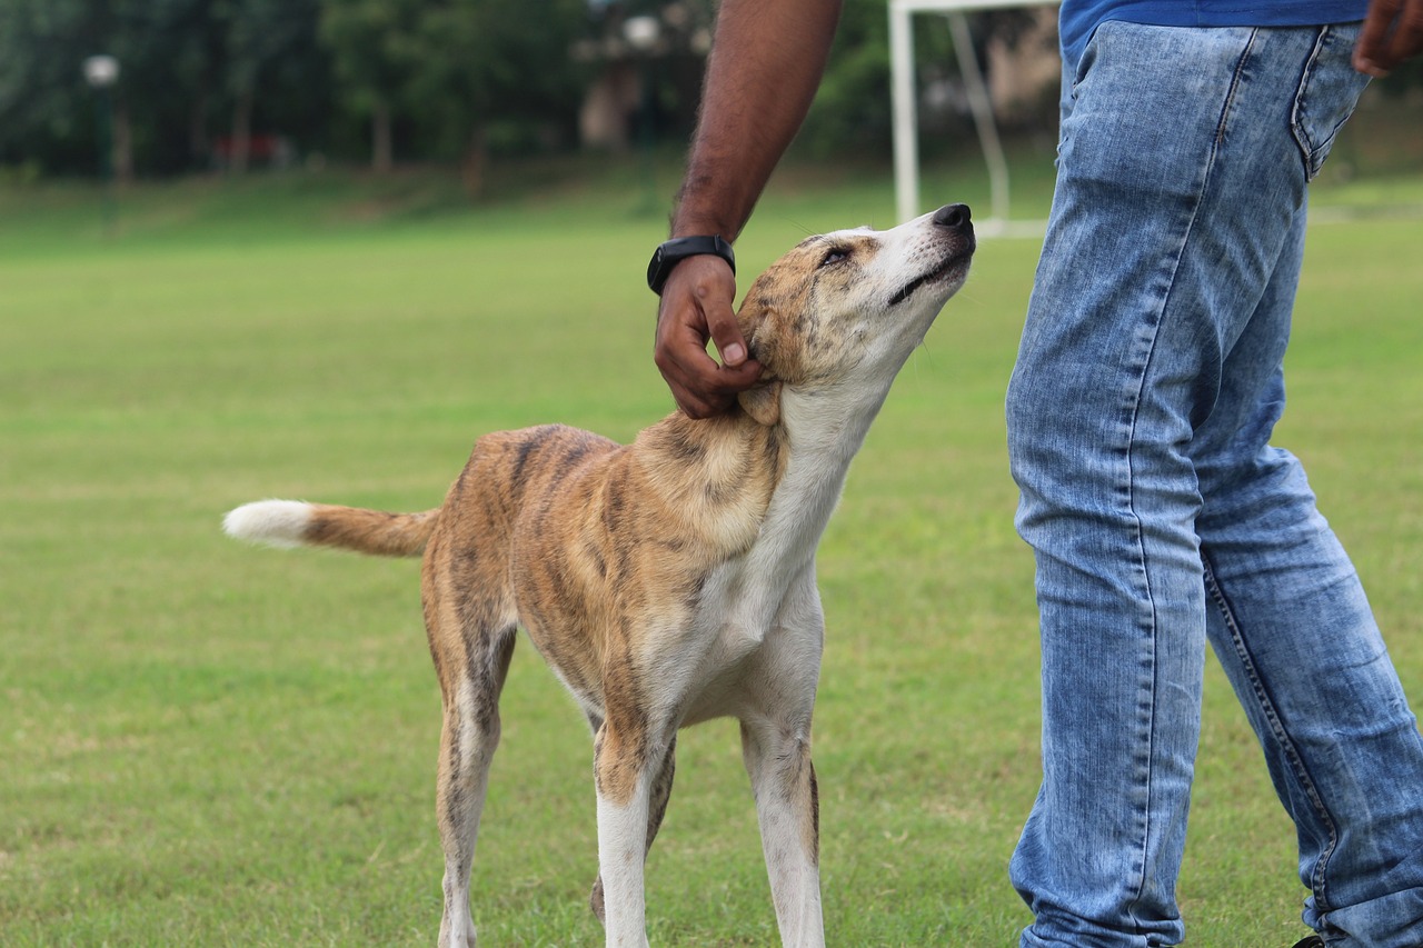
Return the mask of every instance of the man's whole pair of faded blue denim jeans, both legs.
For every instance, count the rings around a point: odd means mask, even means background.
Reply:
[[[1423,739],[1303,470],[1269,446],[1306,185],[1366,83],[1356,33],[1107,23],[1066,67],[1007,393],[1043,648],[1023,947],[1184,937],[1207,641],[1298,827],[1305,922],[1423,945]]]

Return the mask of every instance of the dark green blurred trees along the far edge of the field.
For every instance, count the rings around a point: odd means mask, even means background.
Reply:
[[[622,38],[633,16],[663,24],[650,58]],[[632,137],[684,142],[714,16],[714,0],[0,0],[0,171],[97,174],[100,112],[111,105],[121,181],[273,159],[383,172],[440,162],[462,164],[478,194],[491,159],[579,149],[579,108],[616,68],[635,68],[649,87],[623,104],[625,122],[640,127]],[[972,20],[985,61],[982,47],[995,37],[1012,47],[1027,17]],[[942,19],[919,17],[915,43],[921,88],[952,90]],[[100,53],[121,64],[108,105],[80,70]],[[1387,88],[1406,93],[1420,77],[1414,64]],[[1050,137],[1047,105],[1023,121]],[[929,148],[970,141],[962,104],[922,108],[921,121]],[[845,0],[797,151],[888,149],[885,3]]]

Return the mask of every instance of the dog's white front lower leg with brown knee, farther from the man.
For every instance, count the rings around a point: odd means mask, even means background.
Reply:
[[[650,760],[652,757],[657,760]],[[653,754],[640,727],[603,722],[593,746],[598,783],[598,878],[609,948],[646,948],[643,867],[652,813]]]

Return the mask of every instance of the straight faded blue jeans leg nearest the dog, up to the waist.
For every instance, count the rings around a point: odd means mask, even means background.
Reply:
[[[1235,571],[1248,574],[1265,530],[1231,534],[1217,511],[1276,505],[1249,500],[1264,481],[1224,485],[1282,407],[1306,182],[1362,90],[1352,36],[1107,23],[1069,70],[1057,192],[1007,397],[1043,639],[1043,786],[1010,867],[1036,915],[1023,945],[1184,934],[1175,880],[1207,628],[1235,595],[1222,591],[1251,588]],[[1284,317],[1252,327],[1258,309]],[[1269,357],[1235,357],[1247,340]],[[1249,437],[1224,421],[1237,391],[1254,393],[1241,396]],[[1198,436],[1217,417],[1207,458]],[[1312,498],[1289,515],[1318,522]]]

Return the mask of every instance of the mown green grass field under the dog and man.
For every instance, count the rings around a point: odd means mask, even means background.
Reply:
[[[628,438],[666,413],[642,282],[663,225],[632,172],[599,181],[527,171],[477,208],[428,175],[194,181],[121,195],[111,236],[94,192],[0,192],[0,942],[434,942],[417,564],[252,549],[219,520],[262,497],[423,510],[485,430]],[[1047,174],[1022,181],[1016,211],[1044,214]],[[985,191],[955,168],[924,189]],[[1312,231],[1279,441],[1423,702],[1423,222],[1400,201],[1423,185],[1321,195],[1376,214]],[[879,172],[790,177],[743,272],[891,209]],[[1002,397],[1036,252],[985,242],[821,549],[835,945],[1007,945],[1027,920],[1005,867],[1037,784],[1036,611]],[[1188,944],[1288,945],[1292,830],[1214,665],[1207,692]],[[481,944],[601,944],[591,744],[527,643],[504,723]],[[734,725],[686,732],[677,771],[653,944],[776,944]]]

